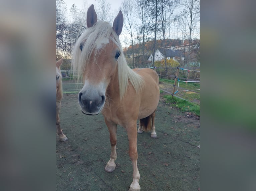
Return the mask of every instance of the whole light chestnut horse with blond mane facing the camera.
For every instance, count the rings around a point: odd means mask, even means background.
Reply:
[[[159,102],[159,78],[150,68],[132,70],[127,65],[119,40],[123,27],[122,11],[111,27],[109,23],[97,20],[94,5],[91,5],[86,23],[88,28],[73,49],[72,68],[79,71],[77,80],[84,84],[78,102],[84,114],[101,112],[104,116],[111,143],[106,172],[112,172],[116,167],[117,125],[126,129],[133,166],[129,191],[139,191],[137,120],[140,120],[138,133],[152,130],[151,137],[156,137],[154,117]]]

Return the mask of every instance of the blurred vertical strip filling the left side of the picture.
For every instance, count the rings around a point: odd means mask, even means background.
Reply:
[[[55,190],[55,11],[1,1],[1,190]]]

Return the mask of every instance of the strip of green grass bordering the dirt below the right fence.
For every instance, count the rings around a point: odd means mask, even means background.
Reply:
[[[167,103],[171,103],[172,106],[179,108],[183,112],[191,112],[200,116],[200,105],[188,102],[183,99],[179,99],[172,95],[164,95]]]

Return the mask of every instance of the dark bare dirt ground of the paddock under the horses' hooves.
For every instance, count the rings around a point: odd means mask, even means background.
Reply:
[[[138,134],[138,169],[141,191],[198,191],[200,187],[200,119],[164,102],[156,111],[157,138]],[[116,169],[107,173],[110,140],[102,114],[81,112],[77,94],[64,94],[60,125],[69,138],[56,136],[57,191],[127,191],[132,182],[128,137],[117,128]],[[138,125],[138,123],[137,123]]]

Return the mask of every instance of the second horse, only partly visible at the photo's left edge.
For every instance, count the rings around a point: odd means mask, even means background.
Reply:
[[[63,58],[56,62],[56,131],[59,136],[60,141],[66,141],[68,138],[65,134],[63,134],[60,128],[60,119],[59,119],[59,111],[61,108],[61,99],[62,99],[62,82],[61,82],[61,72],[60,65],[63,62]]]

